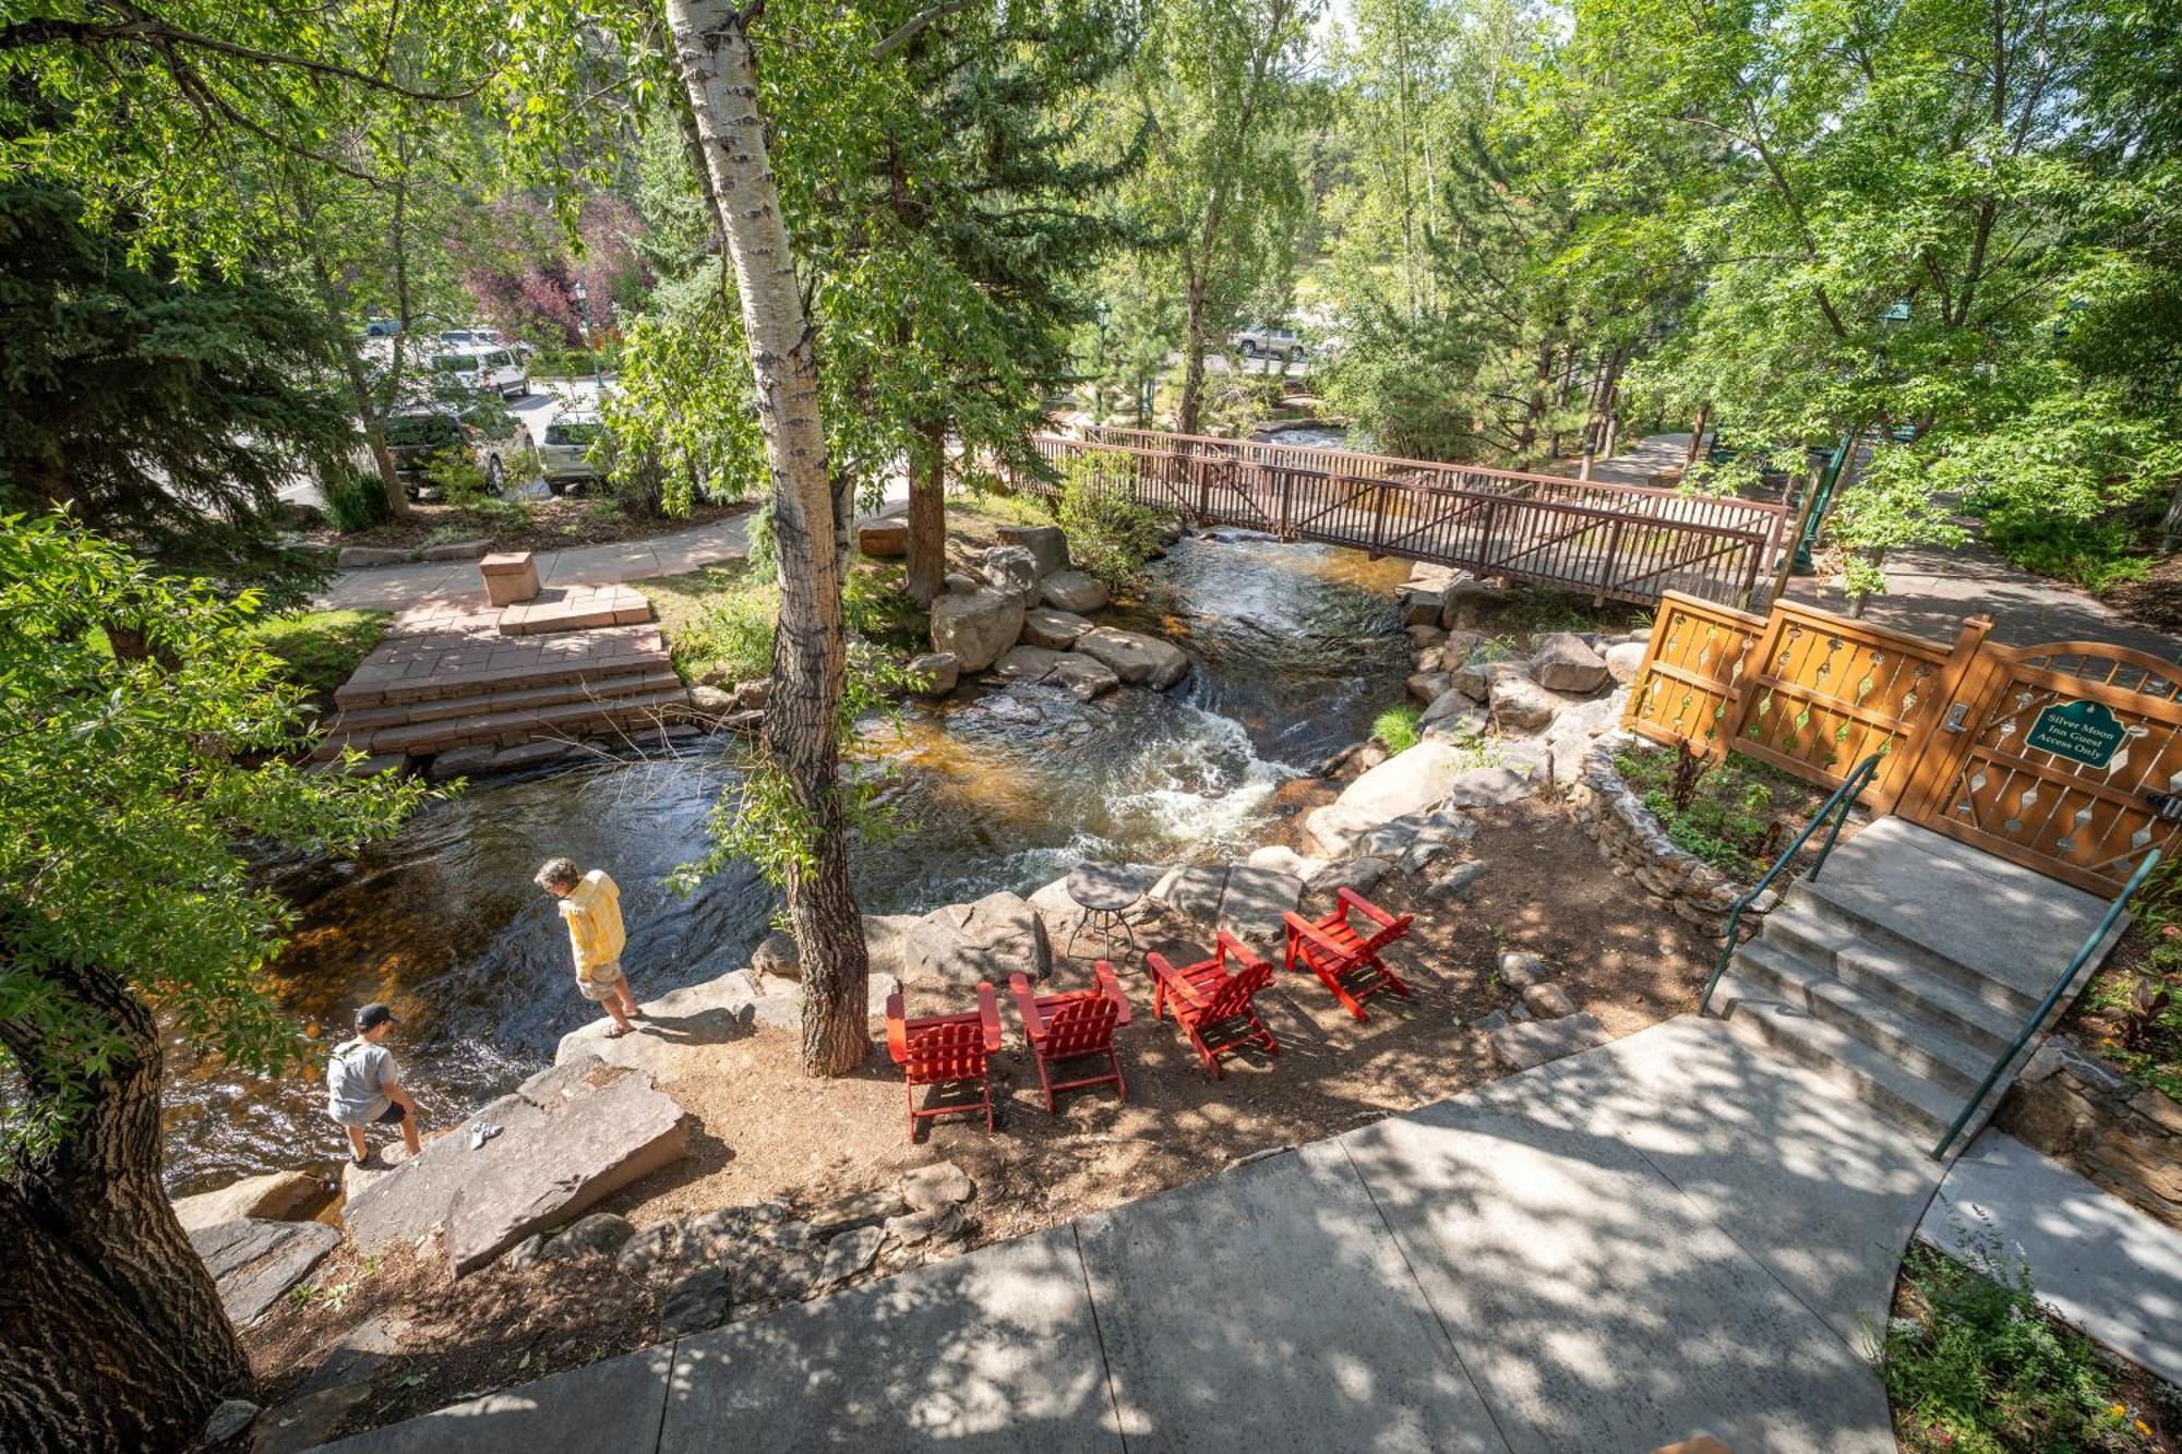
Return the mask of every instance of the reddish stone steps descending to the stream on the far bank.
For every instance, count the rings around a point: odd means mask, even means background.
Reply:
[[[384,642],[334,692],[323,758],[432,755],[546,736],[637,727],[687,712],[659,627],[631,624],[506,640],[478,633]]]

